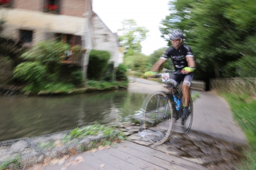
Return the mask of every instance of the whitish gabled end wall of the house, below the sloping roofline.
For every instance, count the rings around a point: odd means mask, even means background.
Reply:
[[[93,14],[92,18],[92,41],[95,50],[105,50],[111,53],[111,61],[114,61],[114,67],[118,66],[119,42],[116,34],[106,27],[104,22]]]

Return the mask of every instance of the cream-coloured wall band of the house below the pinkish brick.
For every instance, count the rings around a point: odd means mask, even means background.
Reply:
[[[84,35],[86,18],[49,14],[25,9],[0,9],[6,23],[2,35],[19,39],[19,30],[33,31],[32,45],[47,39],[48,33]]]

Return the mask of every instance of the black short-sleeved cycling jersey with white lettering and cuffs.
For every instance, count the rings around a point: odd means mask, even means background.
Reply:
[[[181,70],[184,67],[188,66],[186,57],[194,56],[189,46],[180,44],[177,49],[174,47],[167,48],[167,50],[164,51],[163,55],[160,58],[167,60],[168,57],[173,60],[175,69]]]

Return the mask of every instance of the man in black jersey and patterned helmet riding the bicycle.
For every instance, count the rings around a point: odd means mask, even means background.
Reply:
[[[182,114],[182,123],[181,125],[184,126],[185,120],[187,118],[188,112],[188,104],[189,104],[189,87],[191,85],[191,81],[193,79],[194,70],[196,69],[196,62],[194,60],[194,56],[192,54],[191,48],[187,45],[183,45],[181,42],[184,38],[183,33],[179,30],[173,31],[169,35],[170,41],[173,44],[173,47],[167,48],[164,51],[160,59],[153,65],[151,71],[145,72],[146,76],[154,76],[157,74],[158,69],[160,66],[168,59],[172,59],[175,70],[181,71],[184,75],[174,75],[170,82],[177,86],[179,82],[184,78],[182,84],[182,102],[183,102],[183,114]]]

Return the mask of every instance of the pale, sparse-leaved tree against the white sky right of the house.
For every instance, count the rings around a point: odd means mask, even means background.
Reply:
[[[123,20],[122,35],[119,36],[120,45],[124,47],[125,56],[131,56],[135,52],[140,53],[141,41],[146,39],[148,30],[145,27],[138,27],[134,19]]]

